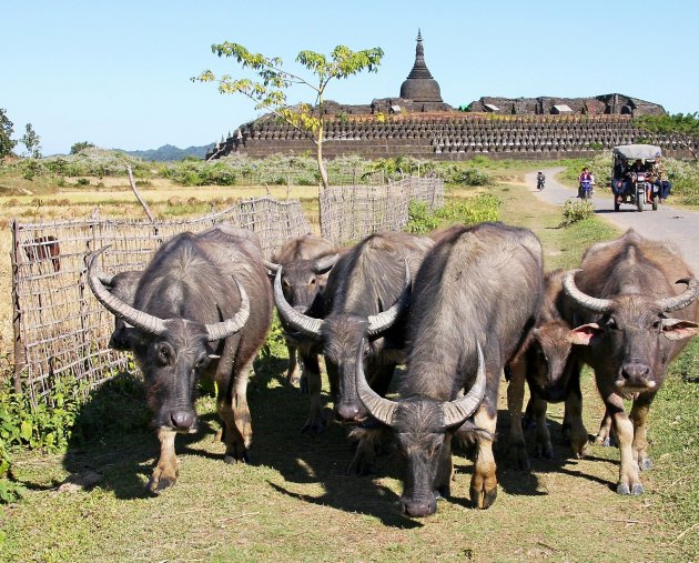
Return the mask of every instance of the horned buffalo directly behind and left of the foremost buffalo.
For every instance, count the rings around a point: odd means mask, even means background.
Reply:
[[[331,271],[324,319],[303,315],[286,303],[277,278],[274,299],[281,316],[293,330],[322,345],[340,418],[358,422],[367,415],[355,385],[356,350],[365,336],[368,343],[364,361],[369,384],[381,395],[386,393],[396,364],[404,359],[405,315],[402,313],[406,309],[409,279],[417,273],[433,244],[426,237],[398,232],[376,233],[364,239]],[[317,389],[320,400],[320,381],[312,385],[312,376],[320,380],[320,375],[308,372],[308,388]],[[322,428],[322,418],[316,424]],[[363,460],[363,455],[355,459],[351,471],[365,472],[369,462]]]

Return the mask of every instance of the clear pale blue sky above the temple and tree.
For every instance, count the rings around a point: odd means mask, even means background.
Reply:
[[[124,150],[216,141],[254,119],[253,103],[189,79],[243,77],[212,43],[280,56],[381,47],[378,73],[331,83],[327,98],[397,97],[422,29],[444,100],[619,92],[671,113],[699,110],[699,4],[651,1],[2,0],[0,108],[14,138],[31,123],[44,154],[78,141]],[[311,101],[310,90],[290,100]],[[19,150],[22,147],[18,148]]]

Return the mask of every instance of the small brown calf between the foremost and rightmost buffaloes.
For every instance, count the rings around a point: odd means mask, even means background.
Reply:
[[[509,363],[507,405],[510,414],[510,461],[520,469],[529,461],[523,433],[521,404],[525,381],[529,386],[527,419],[536,421],[537,458],[551,459],[550,433],[546,424],[548,403],[565,401],[564,438],[570,443],[576,456],[587,449],[587,430],[582,423],[582,393],[580,392],[580,360],[573,354],[568,340],[570,325],[566,321],[570,304],[563,289],[564,270],[555,270],[544,279],[544,294],[535,328],[525,345]]]

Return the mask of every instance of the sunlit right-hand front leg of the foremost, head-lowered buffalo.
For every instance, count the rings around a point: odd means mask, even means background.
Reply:
[[[497,389],[495,390],[497,398]],[[488,396],[476,411],[474,424],[495,435],[497,411],[488,403],[495,403],[495,398]],[[483,435],[477,438],[476,464],[470,479],[470,501],[478,509],[489,507],[497,497],[497,477],[495,475],[495,458],[493,456],[493,440]]]

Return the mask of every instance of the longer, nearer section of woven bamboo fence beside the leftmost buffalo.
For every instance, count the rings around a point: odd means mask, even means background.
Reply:
[[[254,231],[270,258],[285,240],[311,232],[298,201],[256,198],[196,219],[155,223],[125,220],[12,224],[14,386],[32,404],[57,381],[90,389],[129,369],[130,358],[107,348],[113,316],[87,283],[89,255],[104,245],[105,273],[142,270],[171,237],[229,222]]]

